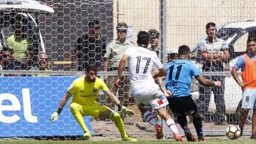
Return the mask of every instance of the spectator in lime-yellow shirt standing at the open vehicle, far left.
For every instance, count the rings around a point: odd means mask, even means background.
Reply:
[[[18,21],[15,24],[14,35],[10,35],[7,38],[7,47],[10,48],[13,56],[10,60],[13,60],[17,67],[21,69],[28,68],[28,61],[32,60],[32,39],[28,38],[26,34],[28,27],[23,21]]]

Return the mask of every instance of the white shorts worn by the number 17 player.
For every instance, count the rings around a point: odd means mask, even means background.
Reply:
[[[152,109],[163,108],[168,105],[168,100],[161,92],[158,85],[152,85],[151,87],[143,87],[138,90],[132,91],[136,105],[145,108],[150,103]]]

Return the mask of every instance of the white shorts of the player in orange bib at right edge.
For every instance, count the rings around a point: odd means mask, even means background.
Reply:
[[[255,88],[247,88],[243,91],[242,108],[243,109],[256,108],[256,89]]]

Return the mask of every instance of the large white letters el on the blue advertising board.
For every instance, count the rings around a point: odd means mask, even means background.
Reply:
[[[29,88],[22,88],[22,98],[23,98],[23,110],[26,121],[28,122],[38,122],[38,118],[31,114],[31,99],[29,94]],[[4,100],[10,100],[12,105],[2,105]],[[7,117],[2,112],[3,111],[20,111],[21,106],[19,99],[10,93],[0,94],[0,122],[13,123],[20,120],[20,117],[16,114]]]

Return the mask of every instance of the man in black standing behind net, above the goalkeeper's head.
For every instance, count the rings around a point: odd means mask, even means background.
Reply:
[[[102,69],[102,57],[106,53],[106,40],[100,35],[99,21],[90,21],[88,26],[88,34],[78,38],[75,45],[78,71],[84,71],[88,64]]]

